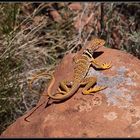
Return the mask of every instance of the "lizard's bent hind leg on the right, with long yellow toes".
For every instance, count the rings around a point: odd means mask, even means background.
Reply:
[[[87,95],[87,94],[92,94],[92,93],[95,93],[95,92],[98,92],[107,88],[107,86],[96,86],[92,88],[92,86],[96,84],[96,81],[97,81],[96,77],[84,78],[83,81],[81,82],[81,85],[85,86],[82,93],[84,95]]]

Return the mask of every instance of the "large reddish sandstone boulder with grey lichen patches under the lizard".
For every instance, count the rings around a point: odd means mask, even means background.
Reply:
[[[104,71],[90,68],[88,76],[95,75],[98,85],[107,85],[107,89],[83,95],[80,88],[63,103],[40,107],[28,118],[30,122],[25,122],[33,108],[1,137],[140,137],[140,60],[104,47],[98,54],[98,61],[112,61],[113,67]],[[59,80],[71,77],[73,55],[65,56],[57,67],[54,90]],[[38,104],[43,100],[44,96]]]

